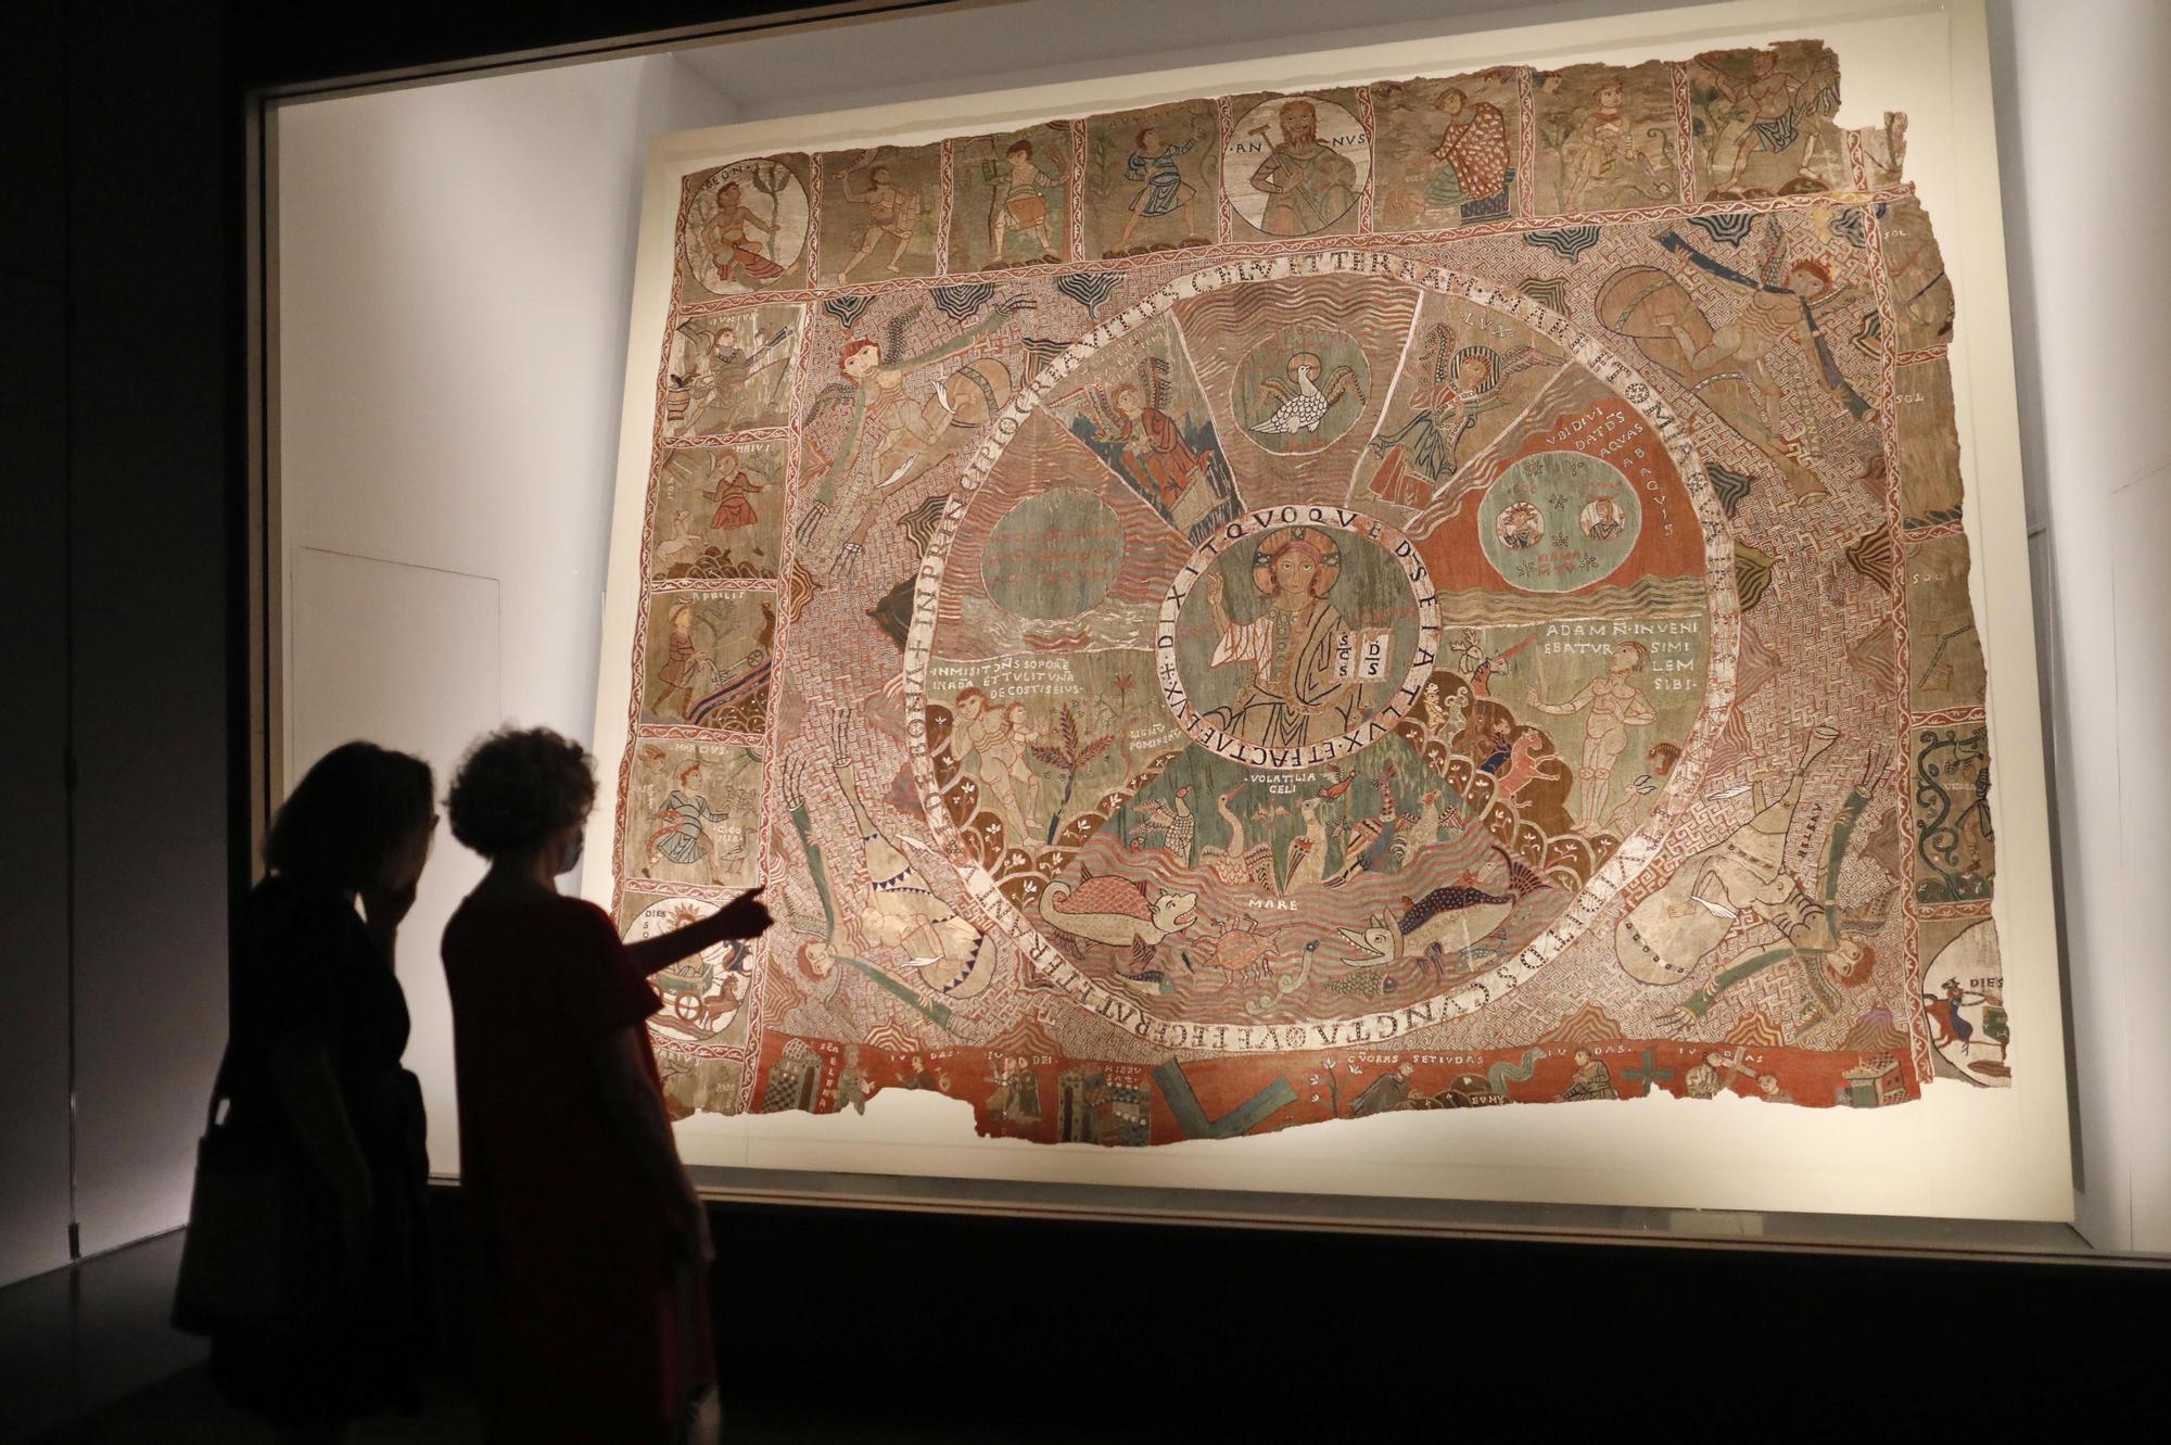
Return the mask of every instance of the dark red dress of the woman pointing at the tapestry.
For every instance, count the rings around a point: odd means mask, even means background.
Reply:
[[[656,1191],[591,1063],[662,1000],[610,916],[558,896],[462,903],[445,924],[445,983],[486,1434],[671,1438],[714,1380],[708,1304],[699,1278],[671,1269]]]

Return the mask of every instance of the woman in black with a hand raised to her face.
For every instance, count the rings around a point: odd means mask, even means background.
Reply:
[[[341,1441],[419,1408],[430,1330],[421,1087],[399,1067],[393,942],[436,833],[430,766],[369,742],[326,753],[271,820],[250,890],[217,1091],[282,1161],[276,1317],[213,1330],[211,1378],[282,1441]],[[360,905],[360,911],[356,911]]]

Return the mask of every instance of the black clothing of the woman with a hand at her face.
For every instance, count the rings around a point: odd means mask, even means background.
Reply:
[[[282,1044],[323,1048],[371,1182],[367,1261],[341,1297],[345,1245],[332,1182],[295,1133],[271,1083]],[[226,1395],[274,1419],[356,1419],[419,1402],[432,1343],[428,1148],[421,1087],[399,1067],[406,994],[345,894],[271,874],[241,916],[226,1057],[228,1120],[287,1163],[280,1230],[293,1319],[213,1339]]]

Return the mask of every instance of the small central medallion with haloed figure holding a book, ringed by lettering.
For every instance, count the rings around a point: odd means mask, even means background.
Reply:
[[[1248,512],[1190,555],[1155,627],[1161,701],[1250,768],[1313,768],[1385,738],[1439,653],[1415,545],[1333,506]]]

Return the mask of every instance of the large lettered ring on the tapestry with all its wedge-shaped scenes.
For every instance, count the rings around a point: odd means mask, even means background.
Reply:
[[[1685,432],[1559,315],[1370,252],[1207,267],[1042,367],[929,536],[923,861],[1140,1037],[1387,1039],[1646,868],[1737,636]]]

